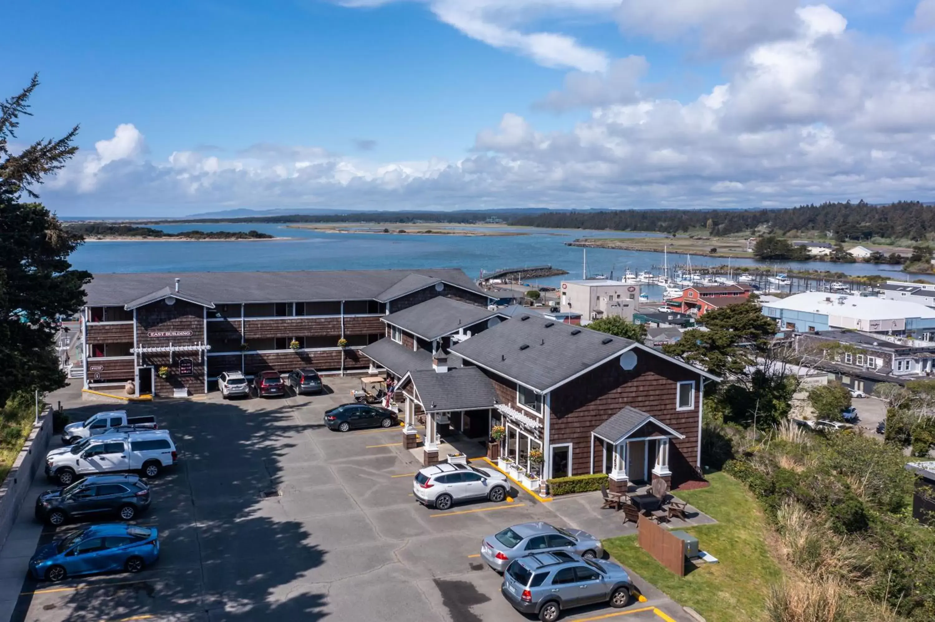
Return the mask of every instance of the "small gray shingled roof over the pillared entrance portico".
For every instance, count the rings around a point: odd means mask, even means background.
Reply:
[[[433,369],[410,372],[426,412],[490,408],[495,403],[494,383],[477,367],[455,367],[444,374]]]

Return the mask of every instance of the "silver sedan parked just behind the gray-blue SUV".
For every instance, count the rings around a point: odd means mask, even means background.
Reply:
[[[481,541],[481,557],[497,573],[503,573],[515,558],[545,551],[571,551],[583,558],[604,554],[600,541],[587,531],[542,522],[513,525]]]

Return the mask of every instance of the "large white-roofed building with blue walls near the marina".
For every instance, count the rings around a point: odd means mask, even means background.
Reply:
[[[776,320],[777,331],[849,329],[925,341],[935,334],[935,309],[925,304],[808,291],[763,304],[762,308],[767,317]]]

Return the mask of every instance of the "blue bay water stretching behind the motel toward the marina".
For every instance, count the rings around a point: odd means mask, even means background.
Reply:
[[[405,228],[406,225],[399,225]],[[542,278],[540,285],[555,286],[563,278],[581,278],[583,249],[565,246],[579,237],[658,237],[661,233],[526,229],[527,235],[431,235],[419,233],[324,233],[290,229],[278,224],[161,225],[169,233],[191,231],[247,231],[255,229],[289,240],[250,242],[88,242],[72,255],[76,268],[108,272],[222,272],[270,270],[372,270],[384,268],[461,268],[478,277],[481,270],[551,264],[569,275]],[[506,229],[504,229],[506,230]],[[496,229],[495,229],[496,231]],[[723,258],[692,257],[693,266],[720,265]],[[620,278],[628,268],[635,273],[660,272],[663,254],[636,250],[588,248],[589,275]],[[683,255],[669,255],[669,265],[684,264]],[[771,266],[748,259],[731,260],[735,266]],[[848,275],[882,274],[902,280],[897,266],[870,263],[799,262],[802,269],[832,270]],[[782,266],[780,266],[782,269]]]

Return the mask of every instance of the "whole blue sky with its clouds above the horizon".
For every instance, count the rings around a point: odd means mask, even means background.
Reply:
[[[19,141],[81,124],[79,157],[42,191],[63,215],[932,198],[935,0],[12,15],[2,92],[42,82]]]

